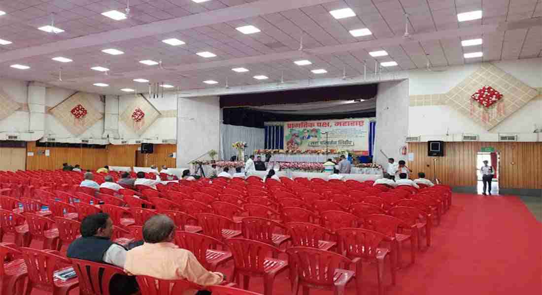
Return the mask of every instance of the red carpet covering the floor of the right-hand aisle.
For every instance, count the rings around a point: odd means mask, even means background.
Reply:
[[[396,286],[391,286],[386,267],[386,294],[542,294],[542,224],[516,197],[454,194],[450,211],[434,228],[432,242],[428,250],[418,252],[415,265],[408,265],[406,245]],[[231,267],[222,271],[231,275]],[[361,293],[378,294],[376,266],[365,266],[363,274]],[[262,292],[262,280],[251,279],[250,290]],[[275,281],[273,294],[291,294],[287,272]],[[347,294],[356,294],[353,283]]]

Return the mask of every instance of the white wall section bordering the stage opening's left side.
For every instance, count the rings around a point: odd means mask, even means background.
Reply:
[[[177,106],[177,167],[188,167],[208,150],[220,149],[220,103],[218,96],[180,97]]]

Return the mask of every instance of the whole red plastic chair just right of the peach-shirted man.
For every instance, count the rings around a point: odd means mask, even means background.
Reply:
[[[225,244],[208,235],[177,231],[175,232],[175,243],[192,252],[199,263],[208,271],[216,271],[219,265],[225,264],[233,258],[229,251],[216,250],[216,245],[221,245],[224,249]]]

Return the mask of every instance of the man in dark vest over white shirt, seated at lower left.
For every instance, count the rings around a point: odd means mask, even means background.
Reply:
[[[111,241],[113,221],[106,213],[88,215],[81,221],[81,238],[68,247],[67,257],[111,264],[124,268],[126,249]],[[138,291],[135,277],[116,275],[109,284],[109,293],[129,295]]]

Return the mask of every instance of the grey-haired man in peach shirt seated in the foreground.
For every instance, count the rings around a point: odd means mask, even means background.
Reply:
[[[145,222],[143,239],[142,246],[126,254],[127,273],[164,280],[185,279],[203,286],[220,284],[225,279],[220,272],[207,271],[192,252],[173,244],[175,223],[166,215],[154,215]],[[196,292],[190,290],[184,294]]]

